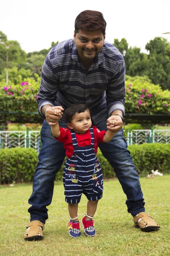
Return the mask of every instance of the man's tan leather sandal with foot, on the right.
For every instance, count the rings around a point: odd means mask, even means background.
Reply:
[[[144,232],[157,231],[160,228],[159,224],[146,212],[139,212],[133,217],[133,221],[135,226]]]

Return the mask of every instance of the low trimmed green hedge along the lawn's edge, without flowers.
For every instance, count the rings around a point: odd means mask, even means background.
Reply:
[[[170,144],[144,143],[130,145],[128,149],[140,176],[147,176],[152,169],[170,173]],[[97,157],[102,166],[103,177],[105,179],[115,177],[113,168],[100,150],[97,152]],[[38,153],[32,148],[0,149],[0,184],[32,182],[37,161]],[[57,173],[56,180],[62,179],[63,170],[64,163]]]

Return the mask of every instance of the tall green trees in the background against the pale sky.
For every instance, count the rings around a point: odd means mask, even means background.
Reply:
[[[8,67],[9,80],[17,84],[17,77],[22,79],[40,75],[42,64],[49,50],[58,42],[52,42],[48,49],[39,52],[24,52],[19,42],[8,41],[7,36],[0,31],[1,41],[9,46]],[[125,38],[113,43],[123,54],[128,76],[147,76],[151,83],[159,84],[163,90],[170,90],[170,42],[165,38],[156,37],[150,40],[141,52],[139,47],[129,47]],[[0,44],[0,81],[6,79],[6,47]]]

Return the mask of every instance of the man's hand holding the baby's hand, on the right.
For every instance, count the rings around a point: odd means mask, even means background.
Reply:
[[[116,134],[118,133],[122,126],[123,126],[123,122],[122,122],[122,118],[120,116],[110,116],[108,119],[107,119],[107,129],[113,133],[113,134]]]

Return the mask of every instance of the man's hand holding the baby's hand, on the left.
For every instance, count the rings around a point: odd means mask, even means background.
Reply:
[[[56,125],[56,123],[62,118],[64,108],[62,106],[50,107],[46,110],[46,121],[50,125]]]

